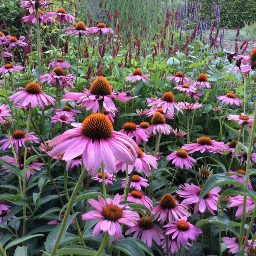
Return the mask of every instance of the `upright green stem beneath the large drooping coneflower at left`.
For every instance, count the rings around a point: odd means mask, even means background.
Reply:
[[[30,119],[31,119],[31,114],[32,114],[32,108],[29,106],[29,113],[27,115],[27,128],[26,128],[26,141],[29,136],[29,125],[30,125]],[[27,161],[27,146],[25,147],[24,151],[24,163],[23,163],[23,200],[26,200],[26,161]],[[23,231],[22,231],[22,237],[26,235],[26,229],[27,229],[27,210],[26,206],[23,206]]]

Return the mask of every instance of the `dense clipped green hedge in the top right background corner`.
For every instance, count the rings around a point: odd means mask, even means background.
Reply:
[[[214,0],[201,0],[200,14],[202,17],[208,14],[211,19],[212,2]],[[221,7],[221,27],[235,29],[256,20],[256,0],[215,0],[215,3]]]

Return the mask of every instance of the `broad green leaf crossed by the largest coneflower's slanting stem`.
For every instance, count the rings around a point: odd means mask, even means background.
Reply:
[[[63,240],[63,238],[65,237],[65,234],[66,234],[66,232],[67,232],[67,229],[68,229],[69,225],[71,224],[72,220],[76,217],[76,215],[78,215],[78,212],[75,212],[75,213],[73,213],[72,215],[70,215],[70,216],[68,217],[67,223],[66,223],[66,225],[65,225],[65,227],[64,227],[64,230],[63,230],[63,232],[62,232],[62,234],[61,234],[60,242],[61,242],[61,240]],[[55,243],[55,241],[56,241],[56,238],[57,238],[57,236],[58,236],[58,234],[59,234],[59,231],[60,231],[60,226],[61,226],[61,223],[60,223],[57,227],[55,227],[55,228],[50,232],[50,234],[47,236],[47,238],[46,238],[46,241],[45,241],[45,250],[46,250],[47,253],[50,253],[50,252],[52,251],[53,245],[54,245],[54,243]]]

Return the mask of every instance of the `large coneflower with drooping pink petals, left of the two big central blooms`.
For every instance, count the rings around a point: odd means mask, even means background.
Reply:
[[[38,83],[28,83],[25,88],[9,97],[10,101],[14,103],[19,102],[20,106],[31,105],[31,108],[35,108],[40,105],[44,109],[44,105],[54,104],[54,99],[45,93],[42,93],[41,86]]]

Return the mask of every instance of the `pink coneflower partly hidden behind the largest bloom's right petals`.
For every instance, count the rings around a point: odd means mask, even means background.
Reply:
[[[128,165],[128,173],[130,174],[132,170],[136,168],[137,172],[143,172],[146,176],[150,175],[151,167],[157,169],[157,158],[153,155],[145,154],[140,148],[138,152],[138,157],[135,160],[133,165]],[[124,172],[126,170],[126,164],[120,161],[116,163],[116,171],[122,170]]]

